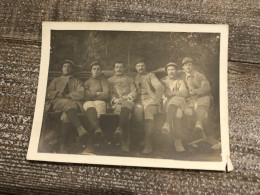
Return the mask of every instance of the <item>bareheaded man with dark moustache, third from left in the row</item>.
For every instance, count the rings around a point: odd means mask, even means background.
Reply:
[[[114,133],[121,143],[121,150],[129,152],[129,118],[134,107],[137,92],[133,78],[124,74],[123,62],[114,64],[115,75],[108,79],[111,93],[111,107],[115,114],[120,115],[118,127]]]

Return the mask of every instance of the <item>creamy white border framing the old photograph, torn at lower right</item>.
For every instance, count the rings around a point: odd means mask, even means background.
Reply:
[[[45,104],[49,61],[51,30],[112,30],[112,31],[153,31],[153,32],[196,32],[220,33],[219,56],[219,96],[220,96],[220,131],[221,131],[221,162],[182,161],[154,158],[95,156],[77,154],[54,154],[38,152],[43,110]],[[27,160],[53,161],[66,163],[85,163],[116,166],[158,167],[178,169],[200,169],[231,171],[229,131],[228,131],[228,25],[216,24],[166,24],[166,23],[119,23],[119,22],[43,22],[42,51],[37,99],[32,125]]]

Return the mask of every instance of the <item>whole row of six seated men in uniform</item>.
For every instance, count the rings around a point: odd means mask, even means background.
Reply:
[[[104,132],[100,126],[100,116],[106,113],[107,105],[119,115],[114,138],[121,145],[121,151],[129,152],[129,121],[134,117],[135,124],[144,124],[143,154],[153,152],[155,134],[155,115],[165,112],[165,122],[160,131],[173,134],[175,150],[185,151],[182,143],[182,122],[184,114],[194,116],[194,129],[201,138],[210,140],[212,149],[219,149],[220,142],[212,134],[205,134],[204,123],[211,104],[210,84],[207,78],[194,69],[194,60],[185,57],[183,70],[170,62],[165,66],[167,76],[159,80],[154,73],[147,72],[146,62],[139,58],[131,76],[125,72],[122,61],[114,63],[114,75],[108,79],[102,76],[99,61],[91,64],[91,77],[82,82],[73,76],[74,63],[66,60],[62,65],[63,75],[55,78],[47,89],[46,107],[54,112],[62,112],[62,130],[58,134],[59,152],[69,153],[67,146],[70,125],[77,130],[78,136],[86,140],[83,153],[93,153],[91,140],[102,140]],[[162,106],[163,105],[163,106]],[[85,128],[77,113],[84,112],[90,123]],[[94,138],[94,139],[93,139]]]

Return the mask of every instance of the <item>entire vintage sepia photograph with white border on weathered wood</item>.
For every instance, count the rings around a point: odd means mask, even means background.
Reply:
[[[44,22],[28,160],[226,170],[227,25]]]

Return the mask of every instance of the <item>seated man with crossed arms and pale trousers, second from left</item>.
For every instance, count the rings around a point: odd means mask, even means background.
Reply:
[[[100,128],[99,117],[106,113],[106,101],[109,99],[109,84],[107,80],[101,77],[102,67],[99,61],[91,64],[92,76],[85,81],[85,110],[91,127],[94,129],[94,137],[101,141],[103,131]]]

